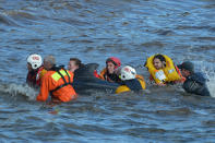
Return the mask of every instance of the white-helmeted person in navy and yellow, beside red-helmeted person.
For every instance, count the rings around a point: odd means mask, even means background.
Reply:
[[[135,69],[130,65],[126,65],[120,71],[120,79],[122,80],[121,86],[116,90],[116,93],[123,92],[139,92],[141,90],[145,90],[145,81],[143,76],[136,74]]]

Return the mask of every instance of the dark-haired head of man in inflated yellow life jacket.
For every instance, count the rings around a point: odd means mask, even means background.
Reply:
[[[166,67],[166,59],[163,55],[156,55],[153,59],[153,65],[155,69],[160,70]]]

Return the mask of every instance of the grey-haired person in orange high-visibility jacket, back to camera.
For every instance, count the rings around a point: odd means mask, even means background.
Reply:
[[[44,68],[47,73],[41,80],[41,86],[38,102],[46,102],[49,94],[52,103],[70,102],[76,98],[76,93],[72,86],[73,73],[63,68],[56,67],[53,56],[47,56],[44,59]]]

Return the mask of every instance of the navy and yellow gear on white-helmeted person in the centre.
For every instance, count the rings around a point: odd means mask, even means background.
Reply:
[[[145,81],[142,75],[136,75],[136,79],[123,81],[122,85],[116,90],[116,94],[141,90],[145,90]]]

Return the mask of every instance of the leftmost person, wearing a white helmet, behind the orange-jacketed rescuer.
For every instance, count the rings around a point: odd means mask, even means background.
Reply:
[[[29,55],[27,57],[27,70],[26,83],[32,87],[39,87],[40,79],[46,73],[41,56],[36,53]]]

